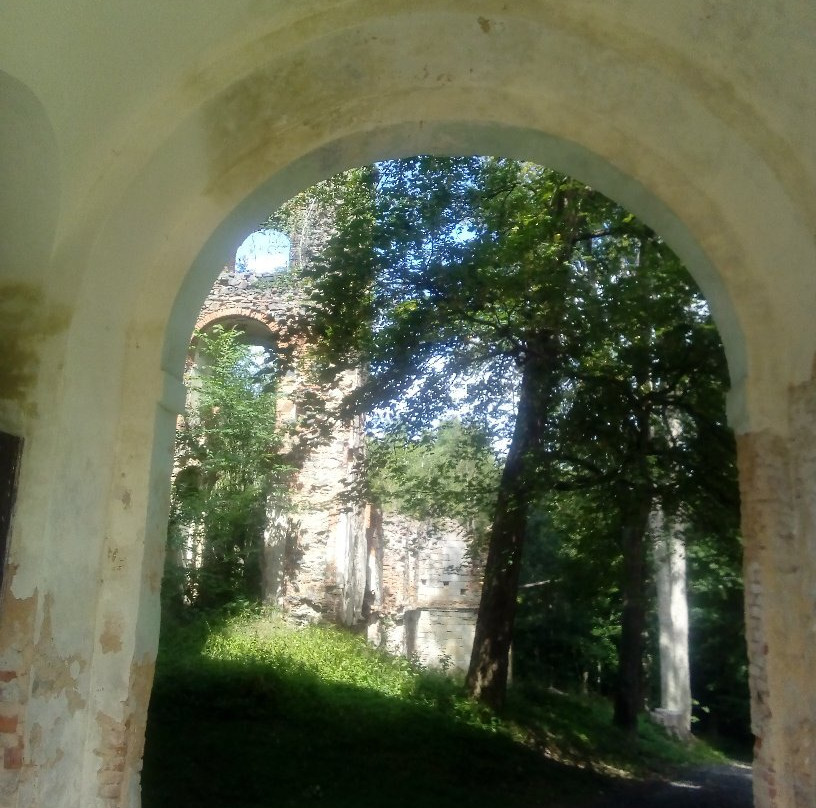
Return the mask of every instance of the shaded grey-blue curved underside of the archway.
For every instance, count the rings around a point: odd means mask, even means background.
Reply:
[[[270,210],[339,171],[412,154],[501,154],[551,167],[619,202],[661,234],[702,289],[722,335],[732,385],[735,390],[740,387],[748,372],[748,357],[739,317],[705,250],[659,195],[579,143],[541,131],[478,122],[404,123],[337,138],[252,187],[215,226],[183,278],[165,335],[164,369],[178,375],[183,367],[187,338],[215,280],[214,268],[229,262],[235,244],[253,232],[250,223],[264,221]],[[736,417],[742,406],[735,404]]]

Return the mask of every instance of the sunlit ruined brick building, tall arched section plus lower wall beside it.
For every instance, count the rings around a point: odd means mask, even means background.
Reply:
[[[302,622],[365,630],[372,643],[393,653],[464,670],[480,595],[467,531],[450,520],[382,513],[349,496],[360,473],[364,419],[327,420],[324,409],[331,411],[360,384],[360,371],[344,373],[331,387],[311,379],[303,316],[296,291],[229,266],[196,324],[197,331],[237,328],[280,357],[278,420],[295,472],[291,506],[267,509],[265,600]]]

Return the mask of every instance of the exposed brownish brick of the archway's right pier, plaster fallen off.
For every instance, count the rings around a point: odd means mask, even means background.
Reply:
[[[790,430],[741,436],[745,621],[759,806],[816,805],[816,383]]]

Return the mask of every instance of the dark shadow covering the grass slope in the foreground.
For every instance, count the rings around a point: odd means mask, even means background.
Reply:
[[[468,725],[454,700],[205,658],[183,673],[160,674],[154,687],[144,808],[532,808],[593,802],[606,786]]]

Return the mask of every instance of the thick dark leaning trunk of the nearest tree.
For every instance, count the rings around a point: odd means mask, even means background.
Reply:
[[[490,532],[466,684],[474,698],[496,710],[503,707],[507,693],[521,556],[534,487],[533,470],[543,436],[545,402],[552,396],[554,358],[554,342],[546,337],[525,362],[516,424],[499,482]]]

